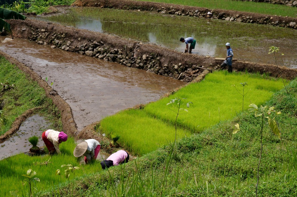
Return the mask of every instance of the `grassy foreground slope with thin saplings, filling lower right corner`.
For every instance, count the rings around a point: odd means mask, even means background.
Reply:
[[[282,112],[277,117],[282,140],[271,136],[265,125],[259,196],[297,195],[297,80],[288,88],[289,95],[281,90],[265,103]],[[242,131],[232,134],[238,121],[235,117],[179,140],[165,188],[170,146],[125,166],[84,175],[75,185],[75,196],[255,196],[260,127],[254,113],[245,111]]]

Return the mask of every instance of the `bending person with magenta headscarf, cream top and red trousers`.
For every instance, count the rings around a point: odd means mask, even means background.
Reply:
[[[42,133],[42,140],[45,143],[45,146],[48,148],[48,153],[53,154],[57,151],[57,153],[61,153],[59,150],[59,144],[62,142],[66,142],[68,136],[64,132],[55,131],[52,129],[48,129]]]

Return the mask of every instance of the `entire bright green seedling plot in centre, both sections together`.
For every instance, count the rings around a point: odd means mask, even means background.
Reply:
[[[241,82],[248,82],[245,93],[249,91],[244,98],[244,110],[251,103],[263,104],[283,88],[281,80],[259,74],[215,72],[206,75],[202,82],[181,88],[169,98],[147,104],[144,109],[129,109],[104,118],[100,130],[120,135],[121,145],[136,155],[144,155],[174,139],[176,114],[167,106],[171,99],[186,98],[193,103],[189,112],[177,120],[177,136],[182,138],[239,115],[242,96],[236,88],[242,92]]]

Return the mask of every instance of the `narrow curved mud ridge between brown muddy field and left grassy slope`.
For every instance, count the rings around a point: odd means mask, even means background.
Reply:
[[[61,96],[59,96],[58,94],[51,94],[51,91],[53,90],[51,87],[48,86],[47,82],[45,82],[43,79],[41,79],[40,76],[38,76],[37,73],[35,73],[34,71],[32,71],[31,69],[29,69],[29,67],[25,66],[23,63],[19,62],[18,60],[16,60],[15,58],[10,57],[9,55],[7,55],[6,53],[3,53],[2,51],[0,51],[0,56],[3,56],[4,58],[6,58],[8,61],[10,61],[10,63],[18,66],[18,68],[20,70],[22,70],[26,75],[28,75],[32,80],[36,81],[40,87],[42,87],[45,90],[45,94],[47,97],[49,97],[50,99],[53,100],[53,103],[58,107],[58,109],[61,112],[61,119],[62,119],[62,124],[63,124],[63,129],[64,131],[67,133],[67,135],[73,136],[75,137],[76,134],[78,133],[76,124],[73,120],[73,115],[72,115],[72,111],[70,106],[61,98]],[[29,116],[29,115],[28,115]],[[27,117],[28,117],[27,116]],[[22,123],[26,118],[22,117],[20,119],[20,123]],[[16,122],[16,121],[15,121]],[[20,124],[19,122],[17,123]],[[15,123],[14,123],[15,124]],[[13,125],[14,125],[13,124]],[[13,132],[15,132],[15,130],[18,130],[18,127],[13,127],[14,129]],[[4,134],[5,135],[5,134]]]

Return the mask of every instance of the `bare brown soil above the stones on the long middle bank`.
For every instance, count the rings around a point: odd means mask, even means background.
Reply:
[[[148,2],[139,3],[147,4]],[[111,36],[99,32],[92,32],[72,27],[65,27],[54,23],[46,23],[43,21],[29,19],[24,21],[9,20],[9,23],[11,25],[13,35],[18,38],[29,39],[29,37],[32,37],[32,34],[34,33],[33,31],[45,29],[49,35],[58,33],[60,35],[64,34],[65,37],[63,42],[71,41],[73,46],[79,46],[84,43],[93,43],[93,41],[101,41],[104,43],[104,46],[102,47],[108,47],[111,49],[116,48],[122,50],[126,54],[133,53],[134,57],[142,57],[142,55],[154,54],[158,56],[158,66],[160,66],[161,69],[164,69],[164,66],[167,65],[170,72],[175,73],[178,71],[178,74],[175,76],[173,75],[173,78],[178,78],[179,73],[185,73],[187,72],[187,69],[192,69],[193,67],[195,68],[195,65],[212,69],[214,66],[222,63],[222,61],[216,61],[215,58],[212,57],[181,53],[152,44],[139,45],[138,42],[122,39],[117,36]],[[42,40],[43,42],[48,42],[49,44],[53,41],[50,36],[45,37]],[[174,67],[179,64],[181,64],[181,66],[175,69]],[[273,77],[280,77],[277,66],[270,64],[236,61],[233,63],[233,68],[238,71],[248,70],[248,72],[260,72],[261,74],[269,73]],[[292,80],[297,76],[296,69],[288,69],[286,67],[279,68],[282,72],[282,76],[287,79]],[[202,71],[203,69],[199,70],[200,73]],[[44,82],[43,80],[41,81]]]

